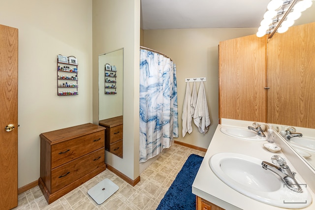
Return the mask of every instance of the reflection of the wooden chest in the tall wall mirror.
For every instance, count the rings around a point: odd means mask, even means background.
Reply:
[[[105,150],[123,158],[123,116],[100,120],[99,125],[106,127]]]

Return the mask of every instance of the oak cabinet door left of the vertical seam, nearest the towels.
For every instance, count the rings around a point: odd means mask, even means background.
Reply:
[[[219,117],[266,122],[266,36],[220,42]]]

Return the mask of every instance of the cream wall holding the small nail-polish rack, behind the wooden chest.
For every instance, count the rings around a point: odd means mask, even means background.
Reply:
[[[92,122],[92,1],[0,0],[19,30],[18,187],[39,178],[39,134]],[[78,59],[79,95],[57,96],[57,55]]]

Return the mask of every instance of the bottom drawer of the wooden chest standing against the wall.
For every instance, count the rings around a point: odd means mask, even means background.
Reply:
[[[56,192],[104,164],[104,148],[101,148],[51,170],[50,193]]]

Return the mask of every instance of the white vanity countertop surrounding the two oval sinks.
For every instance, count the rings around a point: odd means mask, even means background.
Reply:
[[[251,124],[245,126],[243,126],[242,124],[238,124],[238,126],[242,126],[245,128],[249,125]],[[226,210],[284,210],[284,208],[264,204],[237,192],[236,190],[232,189],[224,182],[222,182],[212,172],[209,166],[209,159],[212,155],[220,152],[241,153],[259,158],[267,162],[271,162],[270,158],[274,154],[279,154],[285,158],[282,151],[273,153],[265,149],[263,144],[267,143],[267,141],[237,139],[223,134],[220,131],[221,126],[224,125],[218,125],[217,130],[209,145],[209,148],[204,156],[199,171],[192,184],[192,193]],[[265,134],[267,135],[267,133]],[[297,180],[304,181],[299,175],[298,171],[295,170],[295,168],[288,160],[287,165],[291,168],[292,171],[297,172]],[[312,195],[313,202],[310,206],[304,208],[303,210],[314,210],[315,194],[311,191],[311,189],[308,190]]]

